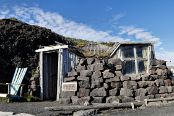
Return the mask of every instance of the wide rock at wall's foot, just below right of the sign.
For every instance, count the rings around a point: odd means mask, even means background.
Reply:
[[[72,96],[71,97],[71,100],[72,100],[72,104],[75,104],[75,105],[84,105],[85,102],[88,102],[90,101],[91,97],[90,96],[87,96],[87,97],[77,97],[77,96]]]

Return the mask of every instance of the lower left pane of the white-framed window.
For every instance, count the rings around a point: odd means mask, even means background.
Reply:
[[[123,73],[124,74],[135,73],[135,61],[125,61]]]

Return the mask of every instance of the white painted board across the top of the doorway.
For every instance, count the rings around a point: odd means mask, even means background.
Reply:
[[[44,48],[37,49],[35,52],[46,52],[46,51],[54,51],[58,49],[68,48],[68,45],[62,45],[62,46],[45,46]]]

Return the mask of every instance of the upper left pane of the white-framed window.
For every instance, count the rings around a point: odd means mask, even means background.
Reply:
[[[134,57],[133,46],[122,47],[122,53],[124,58],[133,58]]]

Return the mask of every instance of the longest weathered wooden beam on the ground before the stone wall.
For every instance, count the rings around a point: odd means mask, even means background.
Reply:
[[[84,105],[64,105],[64,106],[54,106],[45,107],[45,110],[49,111],[77,111],[77,110],[88,110],[88,109],[103,109],[103,108],[131,108],[132,104],[135,107],[142,106],[143,102],[132,102],[132,103],[98,103],[89,106]]]

